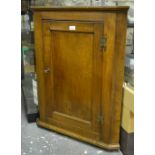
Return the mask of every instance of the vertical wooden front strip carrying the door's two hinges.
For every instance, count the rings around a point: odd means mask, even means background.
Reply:
[[[115,52],[115,14],[104,14],[104,36],[107,38],[107,45],[103,49],[103,67],[102,67],[102,104],[103,127],[101,140],[110,143],[110,118],[111,118],[111,93],[112,93],[112,71],[113,58]]]

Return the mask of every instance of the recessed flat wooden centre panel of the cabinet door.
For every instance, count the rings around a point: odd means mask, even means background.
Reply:
[[[93,47],[89,44],[93,44],[93,35],[73,32],[52,35],[54,110],[91,121]]]

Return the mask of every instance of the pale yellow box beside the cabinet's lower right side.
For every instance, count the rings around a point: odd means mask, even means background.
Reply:
[[[121,126],[127,133],[134,132],[134,89],[124,84]]]

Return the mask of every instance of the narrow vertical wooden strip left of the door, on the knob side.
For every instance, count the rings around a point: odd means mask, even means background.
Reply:
[[[34,28],[35,28],[35,57],[36,57],[36,73],[38,82],[38,98],[39,98],[39,113],[40,119],[44,120],[45,105],[44,105],[44,79],[43,79],[43,56],[42,56],[42,22],[41,14],[34,12]]]

